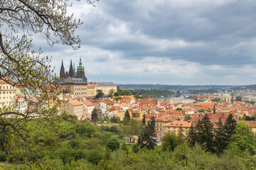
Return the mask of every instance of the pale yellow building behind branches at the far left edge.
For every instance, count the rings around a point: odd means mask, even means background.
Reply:
[[[9,107],[14,104],[16,88],[6,81],[0,80],[0,108]]]

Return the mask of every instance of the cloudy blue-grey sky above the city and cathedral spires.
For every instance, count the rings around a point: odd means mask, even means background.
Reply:
[[[74,2],[80,50],[46,47],[59,74],[79,57],[88,81],[256,84],[255,0]]]

